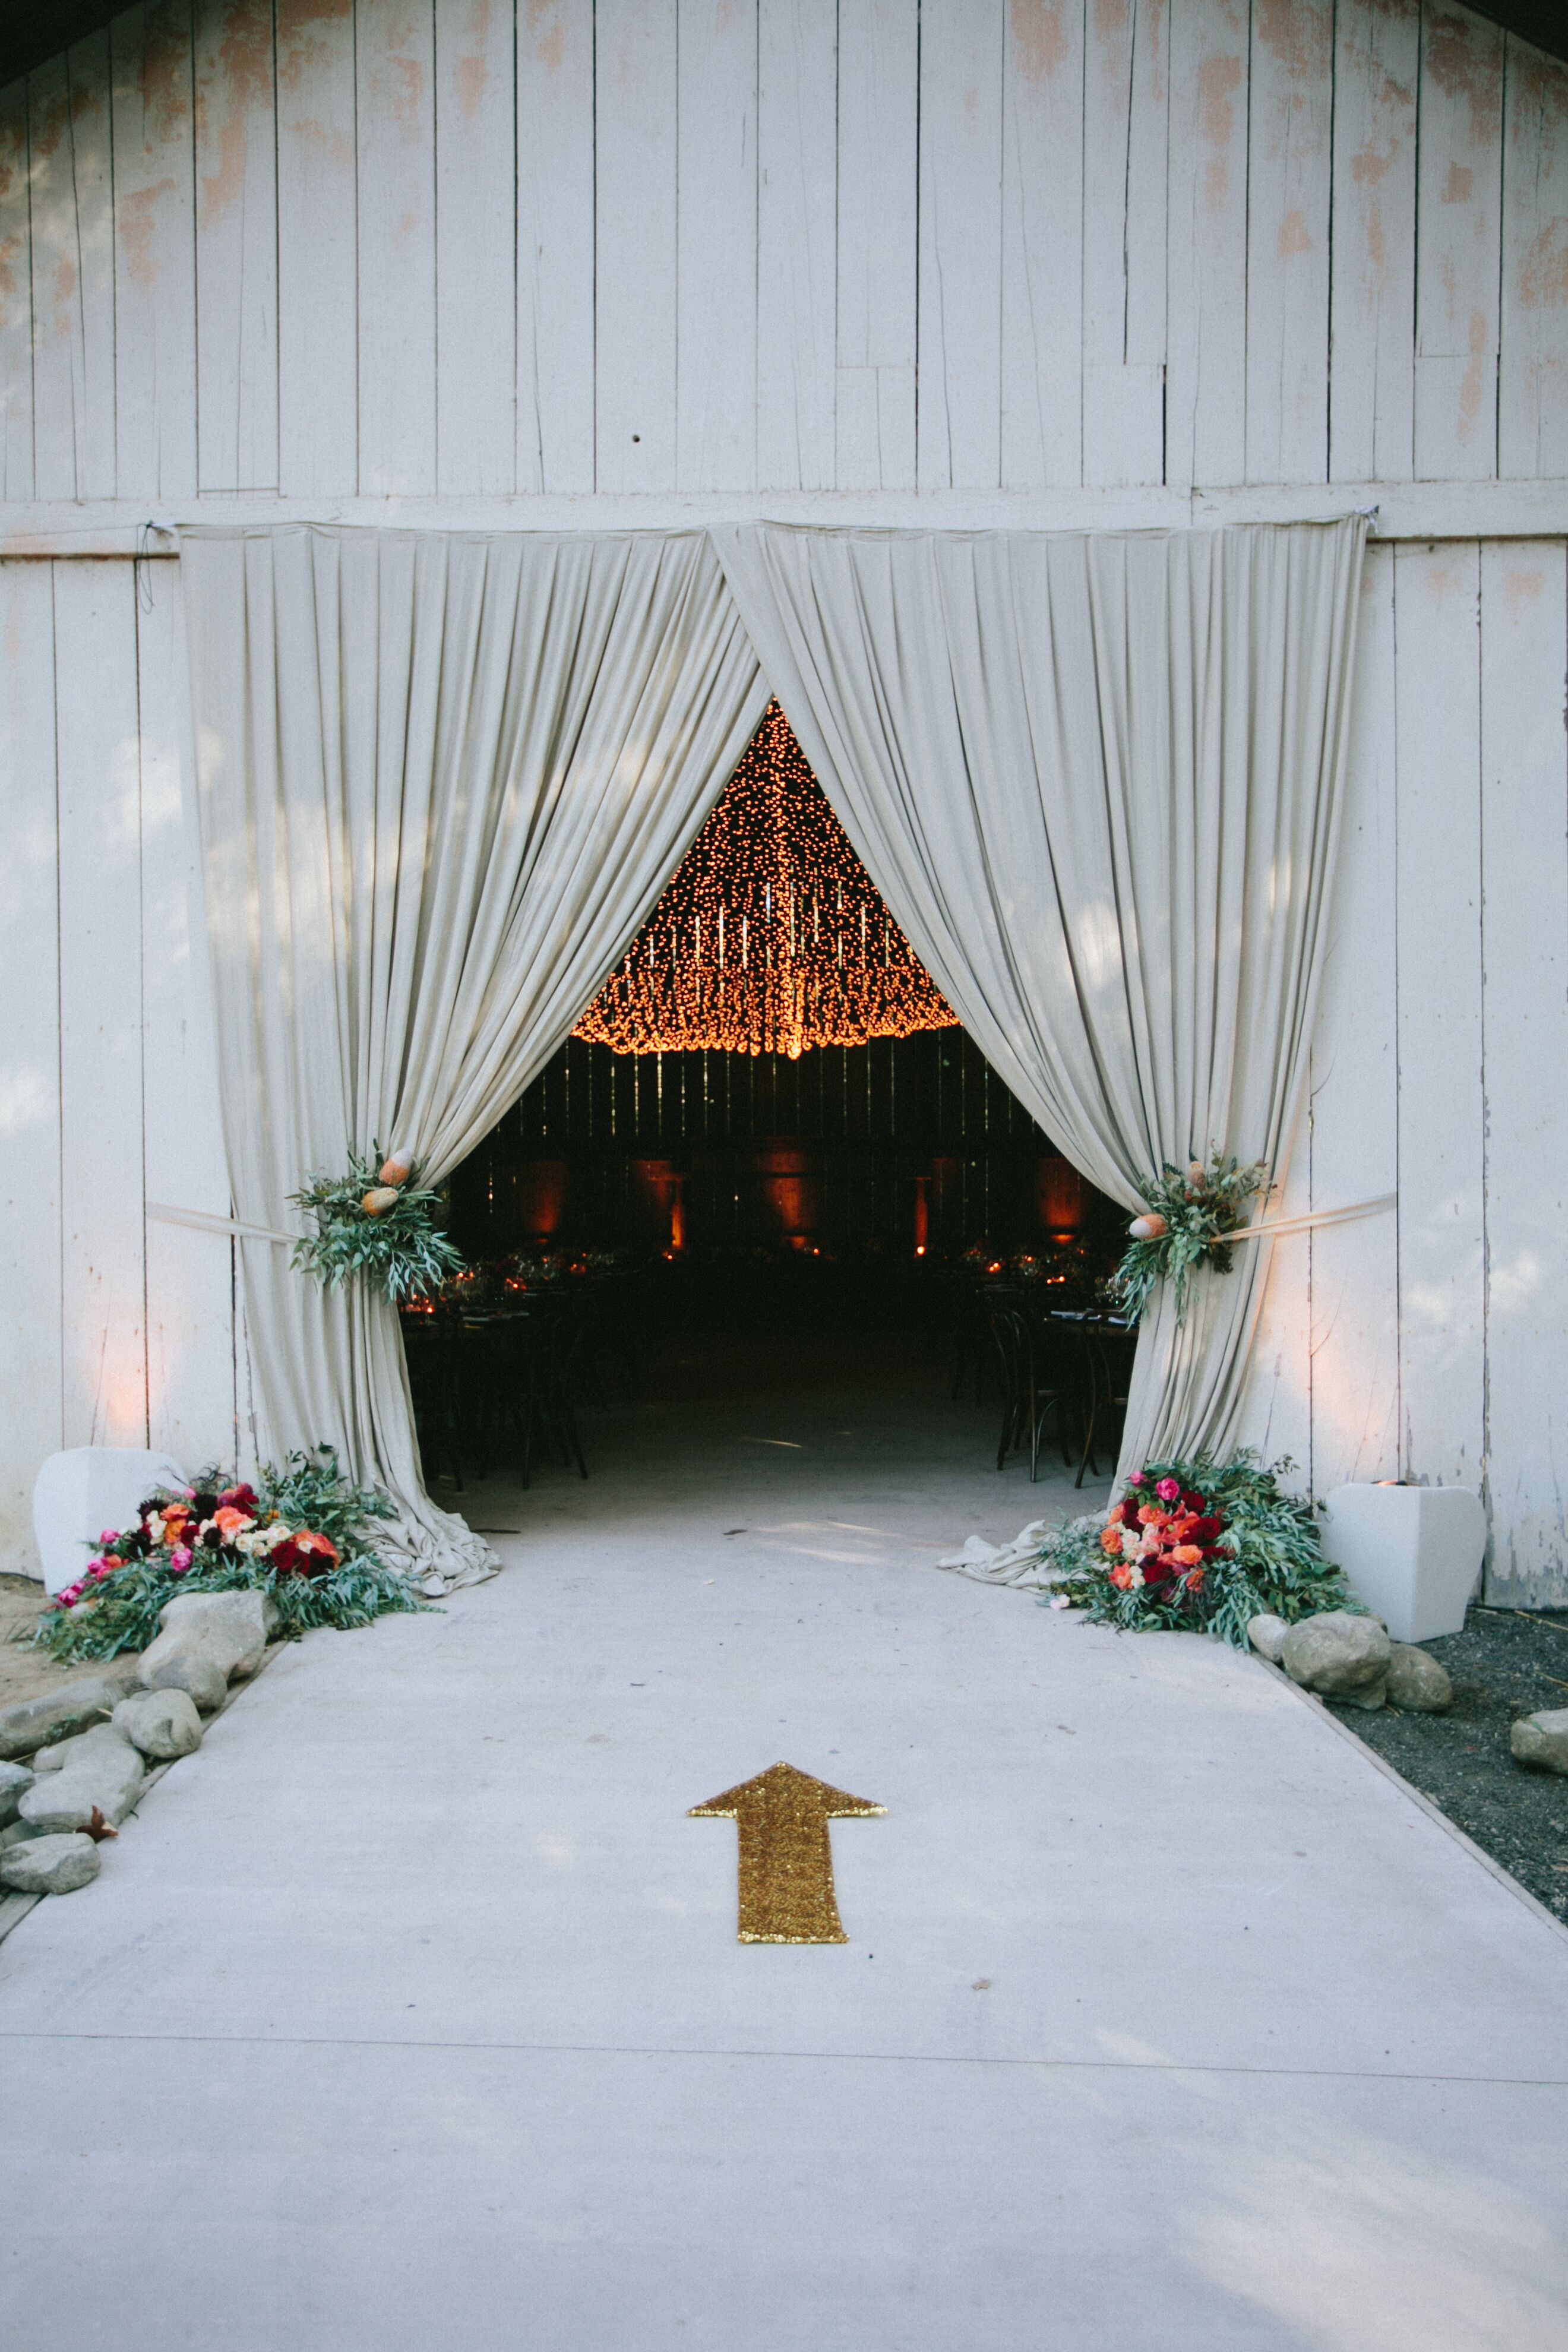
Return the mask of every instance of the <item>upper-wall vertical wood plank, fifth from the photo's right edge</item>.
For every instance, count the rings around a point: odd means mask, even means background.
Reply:
[[[1171,16],[1166,482],[1246,477],[1246,0]]]

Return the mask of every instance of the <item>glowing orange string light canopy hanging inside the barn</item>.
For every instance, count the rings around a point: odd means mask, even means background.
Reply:
[[[574,1037],[788,1054],[957,1028],[778,703]]]

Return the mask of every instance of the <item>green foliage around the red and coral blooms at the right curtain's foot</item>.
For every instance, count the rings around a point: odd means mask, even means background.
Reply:
[[[1107,1517],[1091,1515],[1046,1534],[1041,1599],[1084,1609],[1095,1625],[1119,1625],[1126,1632],[1211,1632],[1234,1649],[1248,1646],[1246,1628],[1255,1616],[1295,1625],[1324,1609],[1359,1611],[1340,1571],[1324,1559],[1312,1505],[1279,1486],[1293,1468],[1286,1456],[1262,1470],[1251,1451],[1227,1463],[1208,1456],[1150,1463],[1135,1484],[1128,1482],[1121,1505],[1152,1501],[1161,1482],[1173,1482],[1182,1494],[1201,1494],[1222,1522],[1218,1541],[1206,1548],[1201,1583],[1112,1583],[1119,1562],[1103,1548]]]

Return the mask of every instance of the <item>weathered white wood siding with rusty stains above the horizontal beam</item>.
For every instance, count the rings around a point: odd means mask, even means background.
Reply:
[[[0,96],[0,492],[1568,475],[1453,0],[146,0]]]

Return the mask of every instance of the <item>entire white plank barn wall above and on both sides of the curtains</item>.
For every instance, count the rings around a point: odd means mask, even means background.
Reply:
[[[1251,1430],[1568,1595],[1568,66],[1450,0],[146,0],[0,92],[0,550],[1382,501]],[[548,501],[541,503],[541,501]],[[1526,536],[1509,536],[1526,534]],[[167,546],[167,541],[165,541]],[[174,572],[0,560],[0,1559],[230,1454]],[[150,600],[148,600],[150,593]]]

